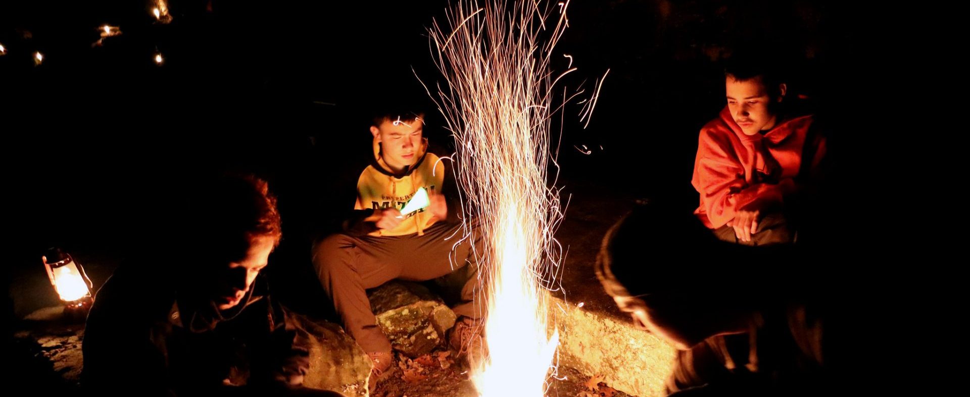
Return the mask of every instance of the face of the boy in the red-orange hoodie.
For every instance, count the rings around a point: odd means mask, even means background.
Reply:
[[[727,108],[730,110],[734,122],[741,127],[745,135],[753,136],[761,130],[770,130],[775,126],[775,114],[772,103],[781,102],[785,96],[785,84],[781,84],[781,95],[772,99],[768,95],[767,87],[761,76],[738,81],[734,76],[727,76]]]

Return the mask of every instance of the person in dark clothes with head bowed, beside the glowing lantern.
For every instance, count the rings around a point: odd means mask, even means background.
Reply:
[[[260,271],[281,236],[275,197],[222,176],[151,225],[152,247],[98,290],[82,345],[90,394],[331,395],[302,386],[307,338]]]

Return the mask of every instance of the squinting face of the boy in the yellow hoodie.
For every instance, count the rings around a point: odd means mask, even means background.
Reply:
[[[421,149],[421,133],[424,122],[416,120],[384,120],[379,126],[371,126],[371,134],[381,144],[381,157],[394,171],[414,165]]]

